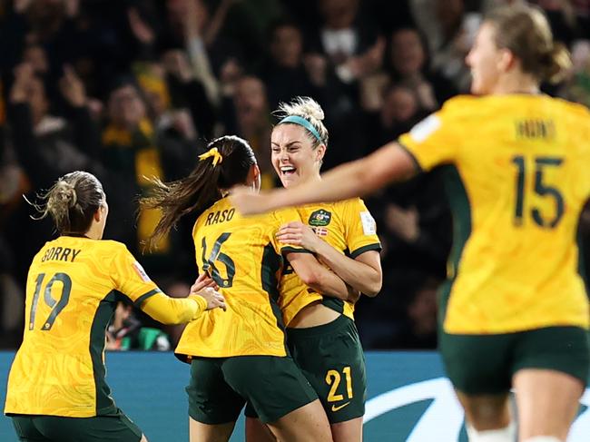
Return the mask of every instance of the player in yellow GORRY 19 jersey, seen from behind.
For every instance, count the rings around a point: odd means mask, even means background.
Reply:
[[[225,308],[198,280],[187,299],[164,295],[126,247],[101,241],[108,215],[103,186],[72,172],[44,195],[41,218],[60,236],[35,255],[26,282],[25,336],[8,377],[5,413],[22,441],[146,441],[117,408],[104,381],[105,329],[122,296],[166,324]],[[203,289],[203,290],[200,290]]]

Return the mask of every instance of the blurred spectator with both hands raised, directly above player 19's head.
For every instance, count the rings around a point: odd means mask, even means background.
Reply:
[[[68,119],[49,113],[51,103],[44,83],[30,64],[17,66],[9,93],[7,115],[16,161],[25,172],[27,182],[36,189],[49,188],[59,176],[73,170],[103,176],[98,162],[99,129],[86,105],[84,84],[73,69],[65,67],[59,86],[68,103]],[[27,216],[21,203],[5,227],[6,238],[15,253],[18,280],[25,276],[32,253],[51,231],[48,224],[43,224],[44,228],[29,229],[30,223],[23,222]]]

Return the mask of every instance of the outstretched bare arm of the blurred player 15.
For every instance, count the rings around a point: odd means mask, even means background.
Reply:
[[[398,142],[389,142],[367,157],[322,174],[320,184],[304,182],[289,189],[258,195],[236,189],[231,195],[231,203],[241,213],[254,214],[313,202],[347,200],[374,192],[389,182],[407,180],[416,172],[418,167],[414,157]]]

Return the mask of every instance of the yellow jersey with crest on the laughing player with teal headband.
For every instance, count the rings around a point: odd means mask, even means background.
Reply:
[[[334,249],[351,258],[368,250],[381,250],[375,220],[359,198],[333,203],[310,204],[298,208],[300,218]],[[305,306],[322,300],[330,309],[354,319],[354,304],[309,289],[287,266],[280,282],[280,309],[288,326]]]

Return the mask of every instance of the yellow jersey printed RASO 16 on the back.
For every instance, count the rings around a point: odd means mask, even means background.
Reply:
[[[306,250],[282,245],[275,235],[299,220],[294,209],[244,218],[226,198],[202,213],[192,230],[197,265],[220,286],[227,311],[209,310],[192,321],[175,350],[179,357],[287,355],[278,304],[282,253]]]

